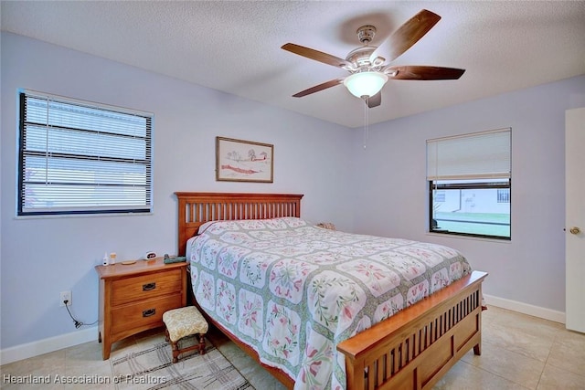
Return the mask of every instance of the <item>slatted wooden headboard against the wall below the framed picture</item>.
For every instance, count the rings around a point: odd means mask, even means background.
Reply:
[[[266,219],[301,216],[301,198],[293,194],[175,193],[178,205],[178,252],[185,256],[186,241],[207,221]]]

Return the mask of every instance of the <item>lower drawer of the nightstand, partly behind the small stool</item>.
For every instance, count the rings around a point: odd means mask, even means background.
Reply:
[[[124,305],[112,310],[112,334],[127,332],[129,328],[141,328],[147,325],[163,323],[163,313],[171,309],[182,307],[182,294],[145,300],[130,305]]]

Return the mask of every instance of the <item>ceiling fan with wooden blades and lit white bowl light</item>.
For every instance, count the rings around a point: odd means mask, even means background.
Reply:
[[[315,85],[307,90],[295,93],[294,98],[302,98],[320,90],[326,90],[344,84],[353,95],[366,101],[369,108],[377,107],[382,102],[381,89],[388,79],[459,79],[465,69],[430,67],[430,66],[391,66],[389,62],[398,58],[441,20],[441,16],[423,9],[387,37],[378,47],[369,43],[376,34],[375,26],[361,26],[357,29],[357,38],[362,47],[349,52],[346,59],[293,43],[282,45],[299,56],[314,59],[327,65],[346,69],[349,76],[332,79]]]

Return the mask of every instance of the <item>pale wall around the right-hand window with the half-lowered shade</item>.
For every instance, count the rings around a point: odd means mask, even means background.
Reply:
[[[458,248],[489,272],[485,294],[564,312],[565,110],[582,106],[585,76],[370,126],[366,150],[356,153],[356,232]],[[505,127],[512,128],[511,241],[425,233],[426,140]]]

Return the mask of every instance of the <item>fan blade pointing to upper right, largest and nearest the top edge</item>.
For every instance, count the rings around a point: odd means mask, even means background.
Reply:
[[[441,16],[427,9],[421,10],[387,37],[372,52],[369,58],[370,62],[373,62],[378,57],[385,58],[388,62],[398,58],[402,53],[412,47],[412,45],[417,43],[421,37],[424,37],[439,20],[441,20]]]

